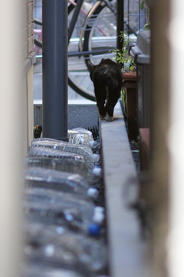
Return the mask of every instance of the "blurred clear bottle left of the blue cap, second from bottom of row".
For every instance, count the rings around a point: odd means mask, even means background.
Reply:
[[[81,195],[43,188],[25,188],[24,210],[28,220],[87,232],[95,205]]]

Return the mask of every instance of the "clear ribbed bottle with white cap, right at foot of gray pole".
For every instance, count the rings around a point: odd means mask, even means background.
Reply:
[[[91,162],[99,162],[100,156],[98,154],[93,154],[91,149],[86,145],[75,145],[63,141],[54,140],[52,138],[35,138],[31,144],[31,147],[48,147],[57,149],[60,151],[72,152],[84,156]]]

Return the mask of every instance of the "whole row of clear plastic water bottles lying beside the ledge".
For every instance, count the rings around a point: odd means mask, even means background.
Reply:
[[[25,168],[28,277],[97,277],[107,265],[105,212],[96,206],[101,168],[91,132],[68,130],[69,142],[33,140]],[[40,273],[41,272],[41,273]]]

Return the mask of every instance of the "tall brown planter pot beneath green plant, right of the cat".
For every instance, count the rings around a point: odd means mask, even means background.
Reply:
[[[126,90],[126,115],[128,132],[131,140],[136,140],[136,73],[123,73],[123,87]]]

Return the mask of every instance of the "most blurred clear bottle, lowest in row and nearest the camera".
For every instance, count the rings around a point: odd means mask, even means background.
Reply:
[[[39,264],[59,264],[84,276],[94,276],[107,265],[107,249],[102,240],[61,226],[31,222],[26,228],[27,259],[39,260]]]

